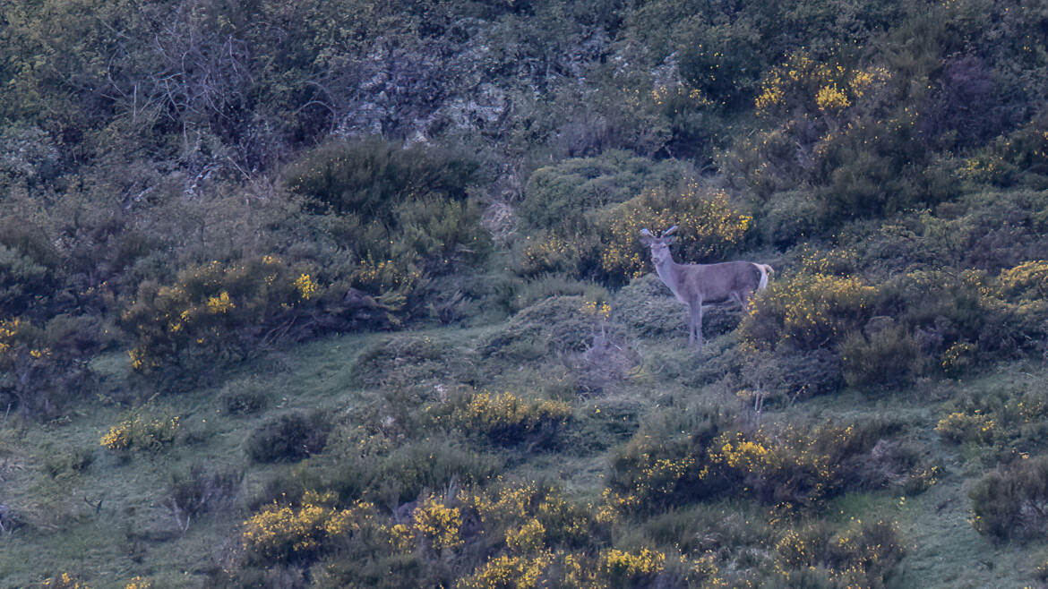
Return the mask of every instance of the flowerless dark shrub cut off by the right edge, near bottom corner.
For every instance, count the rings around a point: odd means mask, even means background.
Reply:
[[[1048,523],[1048,457],[1017,460],[984,475],[968,492],[971,526],[998,540],[1043,539]]]

